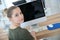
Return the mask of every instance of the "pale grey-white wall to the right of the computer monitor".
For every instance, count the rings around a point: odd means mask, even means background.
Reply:
[[[45,0],[45,5],[47,9],[46,16],[59,13],[60,11],[59,3],[60,3],[60,0]]]

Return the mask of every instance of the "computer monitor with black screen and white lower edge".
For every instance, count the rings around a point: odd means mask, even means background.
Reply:
[[[45,12],[41,0],[22,3],[16,6],[20,7],[24,15],[24,23],[21,24],[21,27],[26,27],[46,21]]]

